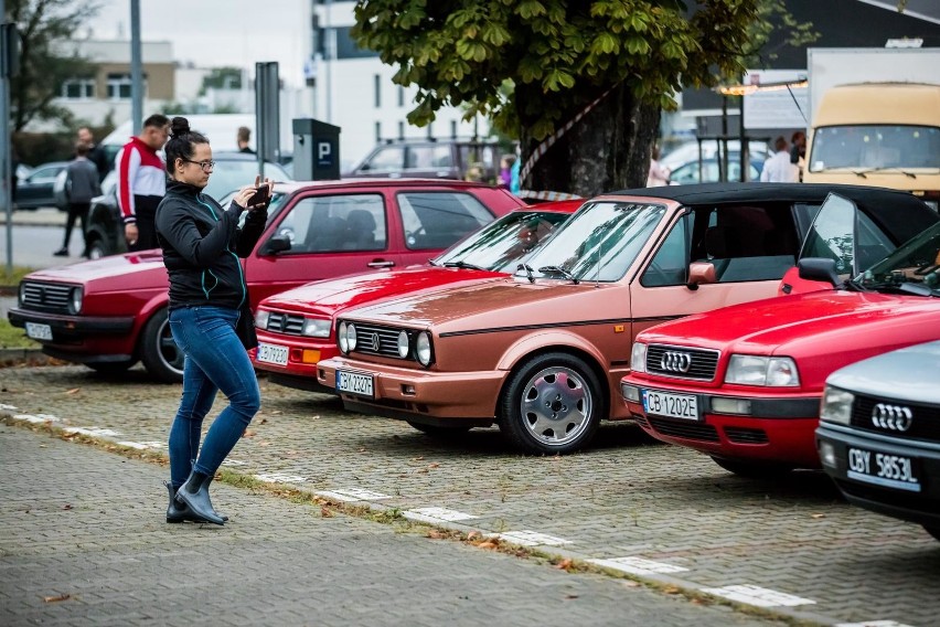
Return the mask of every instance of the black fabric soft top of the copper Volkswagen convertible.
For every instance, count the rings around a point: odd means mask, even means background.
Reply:
[[[664,185],[637,188],[602,194],[660,198],[682,204],[720,203],[730,204],[748,201],[822,202],[830,192],[844,195],[862,205],[882,203],[910,203],[927,205],[910,192],[864,185],[830,183],[759,183],[725,182],[696,183],[688,185]],[[929,208],[927,208],[929,209]]]

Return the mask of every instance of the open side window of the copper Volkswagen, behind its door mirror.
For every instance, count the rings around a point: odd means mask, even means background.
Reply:
[[[693,259],[715,266],[718,283],[782,278],[797,262],[792,208],[718,206],[696,211]]]

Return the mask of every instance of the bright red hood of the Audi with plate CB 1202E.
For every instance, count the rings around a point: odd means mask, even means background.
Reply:
[[[800,358],[823,351],[868,350],[882,341],[891,350],[899,336],[922,338],[914,341],[932,339],[931,333],[940,337],[938,322],[938,298],[818,291],[696,314],[648,329],[640,337],[647,342]],[[898,327],[907,330],[886,333]]]

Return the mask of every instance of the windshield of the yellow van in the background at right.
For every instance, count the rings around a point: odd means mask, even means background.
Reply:
[[[940,128],[931,126],[826,126],[813,136],[810,171],[940,169]]]

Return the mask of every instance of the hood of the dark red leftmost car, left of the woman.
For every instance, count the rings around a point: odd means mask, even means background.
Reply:
[[[146,275],[152,276],[143,278]],[[124,289],[128,289],[128,280],[133,280],[133,286],[140,288],[165,285],[168,281],[163,255],[159,249],[125,253],[124,255],[45,268],[30,273],[28,278],[30,280],[79,284],[85,285],[86,288],[96,285],[104,289],[107,289],[106,286],[111,281],[115,285],[120,283]]]

